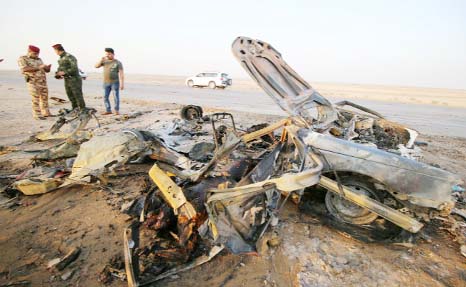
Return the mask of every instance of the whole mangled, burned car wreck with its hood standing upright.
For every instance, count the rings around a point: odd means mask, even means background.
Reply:
[[[125,207],[133,218],[123,234],[129,286],[193,268],[224,249],[256,252],[285,202],[317,187],[327,191],[331,216],[354,226],[389,222],[417,233],[423,221],[451,212],[452,190],[462,182],[416,161],[416,131],[356,103],[331,103],[266,42],[238,37],[232,52],[288,118],[245,131],[230,113],[205,116],[190,105],[165,129],[73,141],[80,147],[65,184],[106,184],[127,163],[155,161],[153,185]]]

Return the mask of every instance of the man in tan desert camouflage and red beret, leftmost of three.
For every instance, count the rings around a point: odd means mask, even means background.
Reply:
[[[30,45],[27,55],[19,57],[18,65],[26,79],[26,85],[32,98],[32,116],[34,119],[43,120],[44,117],[51,116],[45,75],[45,73],[50,72],[51,65],[44,65],[39,58],[39,52],[39,48]]]

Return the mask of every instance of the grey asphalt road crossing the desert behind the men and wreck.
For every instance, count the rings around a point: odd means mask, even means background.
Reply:
[[[62,81],[49,77],[48,82],[51,95],[58,94],[65,97]],[[0,84],[14,88],[25,88],[24,80],[19,73],[1,71]],[[83,82],[83,91],[85,97],[100,96],[103,93],[102,83],[100,80],[88,79]],[[237,91],[228,88],[225,90],[189,88],[184,86],[184,83],[179,85],[126,83],[126,88],[122,91],[120,97],[178,104],[196,104],[262,114],[286,115],[265,92],[260,91]],[[343,99],[329,97],[329,100],[336,102]],[[465,108],[368,100],[357,100],[355,102],[376,110],[386,118],[405,124],[421,133],[466,138]],[[124,107],[122,109],[124,112]]]

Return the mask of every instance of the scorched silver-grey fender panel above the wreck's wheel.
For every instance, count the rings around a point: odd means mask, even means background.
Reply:
[[[301,136],[325,155],[330,163],[327,170],[371,177],[384,183],[387,191],[401,201],[437,210],[453,207],[451,190],[457,178],[447,171],[318,133],[303,131]]]

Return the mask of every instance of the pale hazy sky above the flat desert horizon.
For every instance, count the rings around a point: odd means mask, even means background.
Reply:
[[[0,69],[28,44],[56,68],[61,43],[79,66],[115,49],[127,73],[247,78],[230,45],[272,44],[308,82],[466,89],[466,1],[1,1]]]

